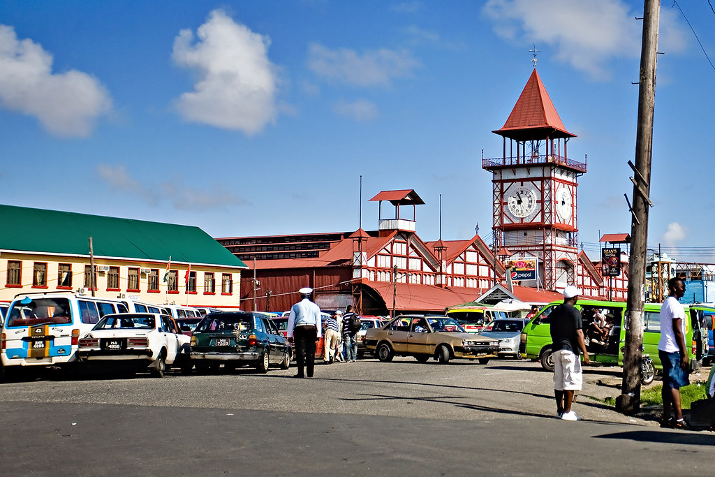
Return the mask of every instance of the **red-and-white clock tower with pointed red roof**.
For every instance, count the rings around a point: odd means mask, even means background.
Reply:
[[[566,144],[576,134],[563,126],[536,68],[493,132],[503,137],[503,155],[482,159],[482,167],[493,174],[495,252],[505,247],[512,259],[536,257],[535,286],[578,285],[576,187],[586,164],[568,159]]]

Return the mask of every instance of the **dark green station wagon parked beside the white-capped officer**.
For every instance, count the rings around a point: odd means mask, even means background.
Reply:
[[[197,370],[251,365],[267,373],[270,365],[290,366],[291,349],[270,318],[245,311],[210,313],[191,337]]]

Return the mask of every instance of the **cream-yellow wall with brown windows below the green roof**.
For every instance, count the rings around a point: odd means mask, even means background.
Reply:
[[[21,262],[20,285],[9,284],[8,262]],[[35,263],[46,263],[46,280],[44,287],[33,285]],[[63,287],[59,282],[59,265],[70,265],[71,286]],[[0,301],[14,300],[15,295],[28,292],[52,292],[52,291],[74,291],[84,288],[87,295],[92,295],[89,284],[85,284],[84,267],[89,265],[89,257],[73,257],[62,255],[43,255],[30,252],[2,252],[0,255]],[[240,283],[241,269],[237,267],[212,267],[207,265],[191,265],[191,271],[195,272],[196,287],[195,292],[187,292],[185,276],[189,265],[187,263],[172,262],[169,270],[177,272],[177,291],[167,290],[169,283],[164,282],[164,275],[167,271],[166,262],[147,262],[139,260],[107,259],[95,257],[94,265],[98,270],[102,267],[119,267],[119,287],[110,289],[108,287],[109,272],[97,272],[97,297],[118,298],[129,297],[133,300],[162,305],[169,303],[172,305],[200,305],[215,308],[239,308],[240,306]],[[139,289],[129,289],[129,268],[158,270],[159,290],[149,291],[149,273],[139,273]],[[207,291],[204,287],[204,278],[207,274],[213,273],[215,278],[214,292]],[[222,290],[222,277],[224,274],[230,275],[232,280],[232,290],[224,292]]]

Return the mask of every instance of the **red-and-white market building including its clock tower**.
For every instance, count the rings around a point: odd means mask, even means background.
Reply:
[[[415,227],[424,203],[417,193],[383,191],[371,199],[380,203],[378,230],[217,239],[252,269],[242,278],[242,308],[287,310],[305,286],[322,308],[356,305],[363,315],[441,313],[490,290],[517,297],[515,286],[533,303],[551,301],[566,285],[624,300],[627,263],[619,262],[614,280],[603,275],[601,257],[578,249],[577,188],[586,163],[568,158],[576,134],[564,127],[536,69],[494,132],[503,137],[502,157],[482,161],[492,174],[492,244],[479,235],[423,240]],[[394,217],[383,218],[383,202],[395,207]]]

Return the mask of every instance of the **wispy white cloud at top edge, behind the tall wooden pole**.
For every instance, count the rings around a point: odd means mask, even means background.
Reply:
[[[556,59],[595,79],[608,79],[608,60],[641,54],[643,23],[635,17],[643,11],[631,7],[622,0],[489,0],[483,12],[500,36],[536,42],[542,51],[548,46]],[[684,46],[671,14],[661,15],[661,39],[673,49]]]

